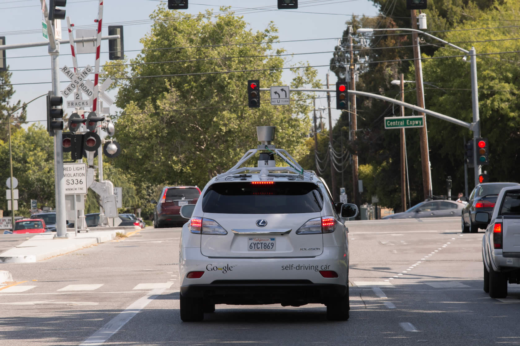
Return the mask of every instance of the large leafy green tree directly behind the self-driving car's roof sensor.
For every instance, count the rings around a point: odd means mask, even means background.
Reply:
[[[291,106],[276,107],[261,92],[262,106],[247,106],[248,79],[259,79],[263,88],[283,85],[283,50],[272,48],[276,27],[252,32],[241,17],[221,10],[215,18],[211,11],[186,18],[160,5],[131,67],[105,67],[107,76],[122,78],[116,104],[124,112],[116,126],[123,154],[115,164],[132,172],[136,185],[202,187],[257,146],[256,126],[276,126],[278,147],[296,159],[305,153],[308,95],[293,92]],[[291,88],[320,85],[313,68],[293,72]]]

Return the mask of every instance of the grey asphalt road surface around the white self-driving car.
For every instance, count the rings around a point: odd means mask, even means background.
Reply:
[[[520,285],[482,289],[483,232],[460,219],[347,223],[350,319],[326,308],[217,305],[179,319],[179,228],[29,264],[2,264],[0,345],[491,345],[520,344]]]

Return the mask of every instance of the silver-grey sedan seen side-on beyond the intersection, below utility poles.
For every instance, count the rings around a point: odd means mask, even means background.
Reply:
[[[450,200],[424,201],[415,204],[407,211],[383,216],[381,219],[403,219],[403,218],[424,218],[424,217],[446,217],[460,216],[462,203]]]

